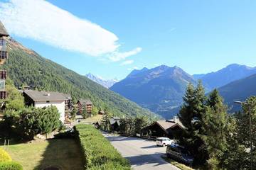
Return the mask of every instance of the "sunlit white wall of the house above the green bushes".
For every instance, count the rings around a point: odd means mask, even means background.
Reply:
[[[56,106],[60,113],[60,120],[64,123],[65,120],[65,101],[50,101],[50,103],[46,103],[46,101],[35,101],[36,108],[43,108],[49,106]]]

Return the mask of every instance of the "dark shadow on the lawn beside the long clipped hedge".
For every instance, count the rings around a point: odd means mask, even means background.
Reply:
[[[82,170],[85,169],[80,146],[75,139],[48,140],[48,146],[41,155],[40,164],[36,170]],[[55,168],[55,169],[54,169]]]

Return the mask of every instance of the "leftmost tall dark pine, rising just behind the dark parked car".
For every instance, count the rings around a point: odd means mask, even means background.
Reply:
[[[206,146],[201,135],[203,134],[203,115],[206,112],[206,96],[201,81],[196,89],[188,84],[183,97],[183,106],[178,113],[178,118],[185,126],[182,135],[177,136],[181,145],[187,147],[195,155],[195,163],[203,164],[208,159]]]

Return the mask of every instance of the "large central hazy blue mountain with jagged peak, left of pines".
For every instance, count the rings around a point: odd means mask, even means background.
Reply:
[[[166,117],[171,109],[181,105],[188,83],[196,84],[196,80],[183,69],[161,65],[134,70],[110,89]]]

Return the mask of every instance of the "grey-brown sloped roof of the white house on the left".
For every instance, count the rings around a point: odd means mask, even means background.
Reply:
[[[33,91],[26,90],[23,92],[32,98],[33,101],[65,101],[65,96],[57,91]]]

